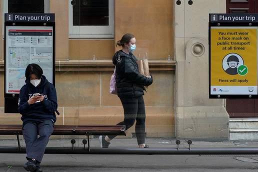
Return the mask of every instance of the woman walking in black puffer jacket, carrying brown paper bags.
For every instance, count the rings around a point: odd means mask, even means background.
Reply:
[[[143,100],[144,86],[152,83],[151,76],[144,76],[139,73],[137,59],[133,55],[136,48],[136,39],[133,34],[126,33],[118,40],[116,45],[122,46],[122,49],[113,55],[113,64],[115,65],[115,81],[117,95],[121,100],[124,120],[117,125],[125,125],[127,130],[135,120],[135,133],[138,147],[148,147],[145,144],[145,106]],[[116,135],[100,135],[100,147],[108,147],[112,138]]]

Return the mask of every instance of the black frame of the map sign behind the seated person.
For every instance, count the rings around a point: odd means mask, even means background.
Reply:
[[[50,19],[48,21],[40,20],[40,21],[27,21],[27,20],[6,20],[7,15],[14,15],[19,13],[5,13],[4,14],[4,113],[18,113],[18,97],[19,93],[6,93],[6,27],[7,26],[51,26],[52,27],[52,84],[55,85],[55,22],[54,22],[54,14],[53,13],[21,13],[22,16],[49,16]]]

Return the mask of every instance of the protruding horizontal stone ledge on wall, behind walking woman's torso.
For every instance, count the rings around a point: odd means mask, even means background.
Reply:
[[[157,71],[175,70],[174,60],[149,60],[149,69]],[[113,71],[112,60],[55,60],[55,71]],[[4,61],[0,60],[0,71],[4,70]]]

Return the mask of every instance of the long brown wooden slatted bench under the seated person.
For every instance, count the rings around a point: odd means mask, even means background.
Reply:
[[[0,125],[0,135],[16,135],[20,150],[19,135],[22,135],[22,125]],[[125,125],[54,125],[52,135],[86,135],[82,140],[90,151],[89,135],[125,135]],[[71,140],[72,148],[75,140]]]

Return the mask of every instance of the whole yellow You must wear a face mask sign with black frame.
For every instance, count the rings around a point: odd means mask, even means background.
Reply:
[[[209,98],[258,97],[256,17],[210,14]]]

